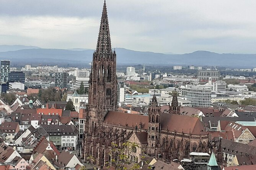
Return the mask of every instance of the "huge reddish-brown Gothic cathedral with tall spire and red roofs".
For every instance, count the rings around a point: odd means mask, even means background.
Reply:
[[[148,115],[117,112],[116,98],[116,52],[111,49],[104,2],[91,64],[82,159],[93,156],[97,165],[106,166],[111,143],[121,146],[126,141],[136,141],[140,147],[131,156],[132,162],[139,162],[142,154],[170,161],[188,158],[190,152],[208,152],[208,133],[197,117],[180,115],[176,93],[167,113],[161,112],[154,94]]]

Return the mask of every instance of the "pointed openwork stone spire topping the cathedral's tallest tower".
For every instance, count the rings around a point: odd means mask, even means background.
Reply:
[[[111,40],[110,40],[110,33],[109,33],[106,0],[104,0],[104,5],[103,5],[96,53],[99,54],[99,58],[109,58],[111,54]]]

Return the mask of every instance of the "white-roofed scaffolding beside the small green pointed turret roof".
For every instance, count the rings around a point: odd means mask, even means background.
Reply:
[[[207,170],[210,155],[203,152],[191,152],[189,159],[182,159],[181,165],[184,170]]]

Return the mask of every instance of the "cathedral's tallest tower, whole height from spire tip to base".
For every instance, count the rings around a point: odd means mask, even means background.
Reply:
[[[86,108],[85,131],[82,155],[96,158],[96,164],[103,165],[107,154],[99,147],[103,135],[104,116],[117,109],[116,52],[111,50],[108,13],[104,1],[98,42],[91,64],[90,88]]]

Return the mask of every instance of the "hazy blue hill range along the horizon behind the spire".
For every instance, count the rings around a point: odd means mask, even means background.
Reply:
[[[33,48],[33,46],[25,47]],[[35,47],[33,49],[2,51],[0,52],[0,59],[10,59],[11,57],[13,64],[62,64],[62,66],[85,67],[92,61],[94,51],[81,48],[78,50],[62,50]],[[255,67],[256,63],[255,54],[218,54],[209,51],[195,51],[178,55],[116,48],[116,54],[117,64]]]

